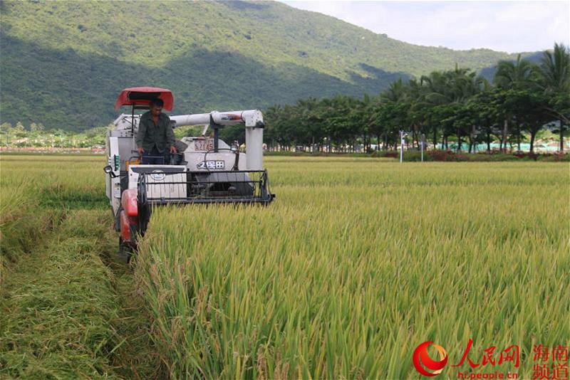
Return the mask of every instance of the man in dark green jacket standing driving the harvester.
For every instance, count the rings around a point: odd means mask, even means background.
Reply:
[[[175,137],[170,118],[162,113],[162,99],[150,100],[150,110],[140,115],[135,139],[142,164],[170,163],[170,154],[176,154]]]

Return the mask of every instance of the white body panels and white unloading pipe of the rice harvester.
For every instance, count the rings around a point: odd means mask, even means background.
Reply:
[[[169,174],[160,176],[160,171],[169,168],[180,169],[180,165],[140,165],[133,164],[138,159],[135,136],[138,132],[140,115],[123,114],[113,122],[113,129],[108,131],[106,154],[108,165],[113,174],[106,176],[105,189],[116,215],[120,209],[122,191],[137,189],[139,174],[136,168],[152,169],[156,175],[147,176],[147,196],[161,199],[182,199],[187,194],[185,184],[182,184],[187,172],[214,171],[259,171],[263,170],[263,115],[259,110],[217,112],[204,114],[170,116],[173,127],[190,125],[215,125],[224,127],[243,124],[246,129],[246,150],[237,152],[238,147],[230,147],[221,139],[217,139],[217,149],[212,137],[183,137],[187,145],[183,154],[185,174]],[[205,129],[204,129],[205,131]],[[216,151],[217,150],[217,151]],[[176,181],[178,184],[161,184],[161,181]],[[160,193],[160,194],[159,194]]]

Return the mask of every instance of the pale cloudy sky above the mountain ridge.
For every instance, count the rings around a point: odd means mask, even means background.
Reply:
[[[281,2],[416,45],[508,53],[570,45],[570,0]]]

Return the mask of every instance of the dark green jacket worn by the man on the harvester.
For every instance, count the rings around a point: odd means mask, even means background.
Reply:
[[[174,145],[174,131],[170,126],[170,119],[167,115],[161,113],[158,117],[158,124],[152,120],[150,111],[140,115],[137,133],[137,147],[142,147],[145,152],[152,152],[152,148],[156,147],[158,152],[162,153],[170,149]]]

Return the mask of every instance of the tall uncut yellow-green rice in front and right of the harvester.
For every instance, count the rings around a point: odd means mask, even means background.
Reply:
[[[418,344],[456,364],[469,339],[527,378],[570,343],[566,164],[266,162],[266,208],[152,214],[135,270],[172,378],[418,378]]]

